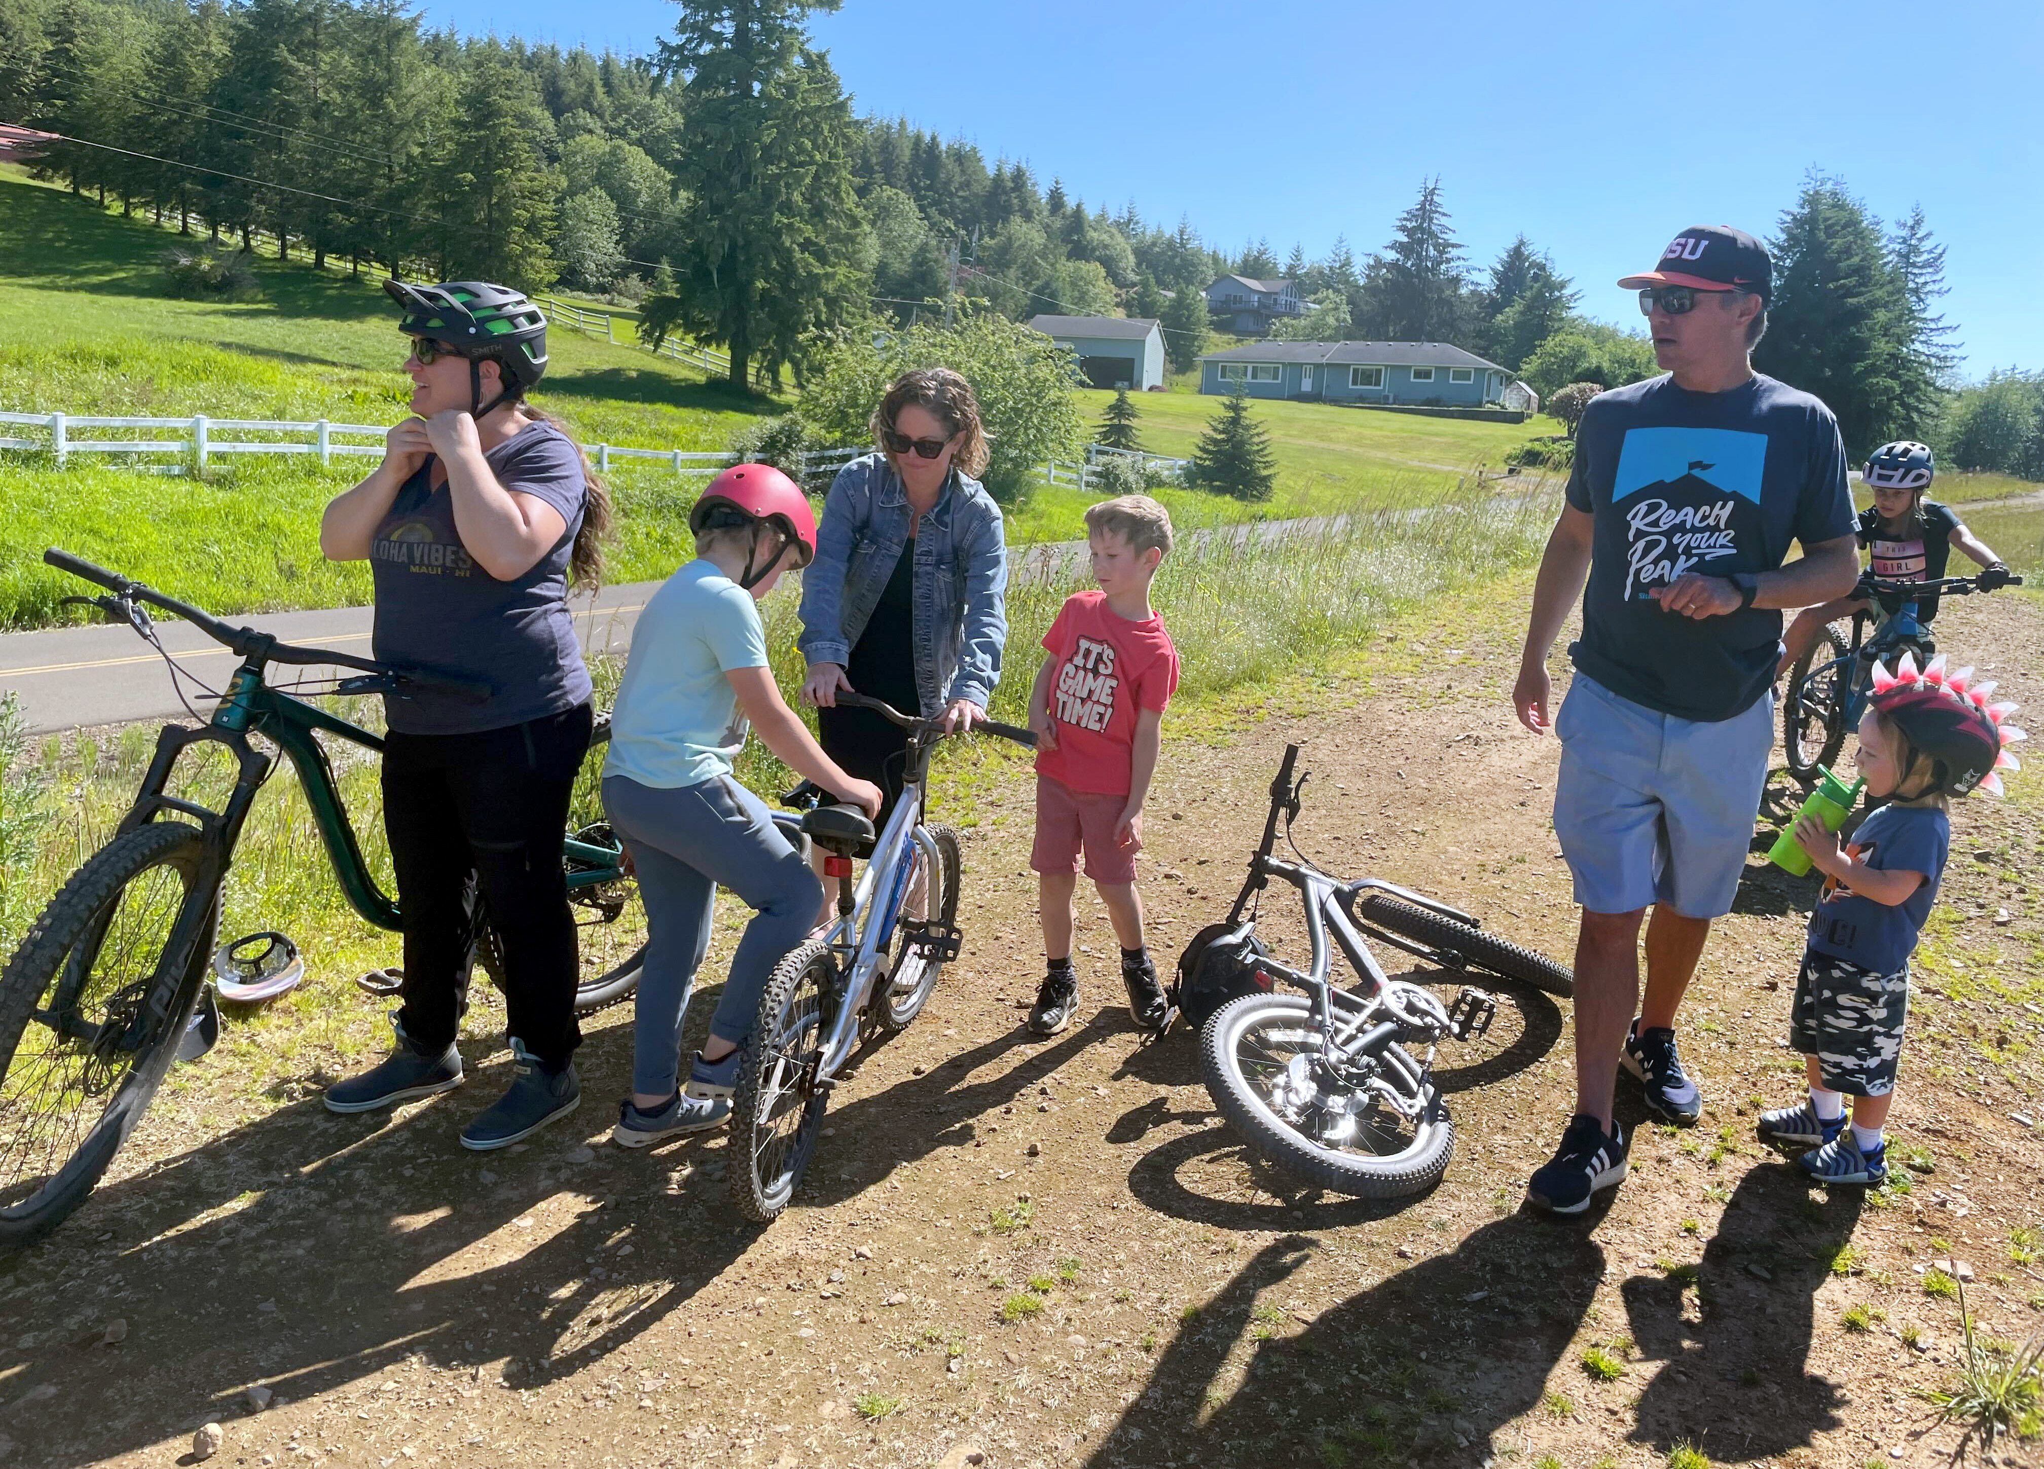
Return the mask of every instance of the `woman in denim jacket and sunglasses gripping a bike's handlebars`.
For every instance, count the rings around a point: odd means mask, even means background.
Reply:
[[[987,437],[971,384],[946,368],[901,374],[873,411],[879,454],[830,484],[816,560],[801,574],[803,697],[822,746],[885,797],[901,795],[905,733],[840,691],[971,729],[987,717],[1008,639],[1002,513],[973,474]]]

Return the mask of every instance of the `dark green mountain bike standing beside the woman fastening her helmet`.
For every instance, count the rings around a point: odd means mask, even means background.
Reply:
[[[211,719],[194,709],[198,727],[166,725],[157,733],[155,756],[114,836],[63,883],[0,970],[0,1242],[33,1240],[84,1203],[178,1054],[204,991],[221,885],[256,793],[276,768],[276,756],[260,750],[258,738],[282,750],[298,772],[347,905],[376,928],[401,928],[397,903],[362,856],[317,736],[366,750],[382,750],[382,740],[272,684],[270,666],[356,672],[315,678],[331,684],[321,693],[399,699],[417,689],[472,699],[491,693],[482,684],[325,648],[294,648],[253,627],[229,627],[65,552],[45,552],[43,560],[104,586],[104,597],[65,601],[131,625],[166,662],[170,654],[147,607],[186,619],[233,650],[241,664],[225,693],[206,691],[219,699]],[[188,676],[172,664],[174,680]],[[603,819],[599,783],[607,740],[609,721],[599,719],[562,840],[583,956],[574,1003],[583,1013],[632,993],[646,946],[638,883],[623,870],[623,848]],[[168,795],[180,756],[200,744],[225,746],[235,758],[235,785],[219,811]],[[480,899],[472,944],[484,970],[495,970],[499,944]]]

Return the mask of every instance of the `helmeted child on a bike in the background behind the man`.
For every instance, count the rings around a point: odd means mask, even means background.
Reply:
[[[1860,511],[1860,546],[1868,550],[1870,574],[1891,582],[1934,582],[1944,576],[1946,560],[1956,546],[1987,570],[1981,588],[1995,590],[2009,578],[2009,568],[1989,550],[1987,541],[1966,529],[1950,507],[1923,499],[1936,464],[1930,445],[1911,439],[1883,443],[1866,462],[1866,488],[1874,503]],[[1840,597],[1819,607],[1805,607],[1782,633],[1782,660],[1774,668],[1780,678],[1795,660],[1811,650],[1827,623],[1854,613],[1872,611],[1872,597]],[[1917,621],[1925,627],[1938,615],[1938,599],[1917,603]]]

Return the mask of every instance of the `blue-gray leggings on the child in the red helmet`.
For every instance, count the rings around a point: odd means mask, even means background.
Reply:
[[[773,966],[807,938],[824,885],[775,827],[766,805],[730,776],[648,787],[613,774],[603,780],[603,809],[632,852],[646,903],[632,1089],[668,1097],[681,1077],[681,1017],[695,970],[709,952],[717,887],[758,909],[738,940],[730,981],[709,1017],[713,1036],[742,1044]]]

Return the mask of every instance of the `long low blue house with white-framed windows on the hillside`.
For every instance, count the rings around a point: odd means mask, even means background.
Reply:
[[[1513,374],[1445,341],[1257,341],[1200,358],[1200,392],[1484,409]]]

